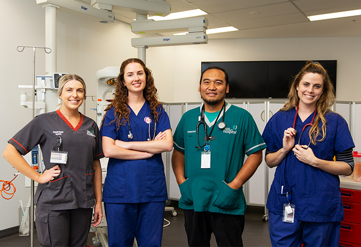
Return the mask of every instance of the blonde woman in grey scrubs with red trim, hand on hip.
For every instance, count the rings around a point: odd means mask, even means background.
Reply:
[[[90,225],[102,218],[101,136],[95,121],[78,111],[86,97],[82,78],[63,76],[58,96],[63,100],[60,109],[31,120],[8,141],[3,156],[39,183],[34,203],[40,245],[86,246]],[[42,174],[22,156],[36,145],[43,155]]]

